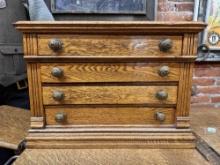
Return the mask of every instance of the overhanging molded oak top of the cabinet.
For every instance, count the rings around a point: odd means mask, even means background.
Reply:
[[[202,31],[203,22],[157,21],[18,21],[15,27],[22,32],[194,32]]]

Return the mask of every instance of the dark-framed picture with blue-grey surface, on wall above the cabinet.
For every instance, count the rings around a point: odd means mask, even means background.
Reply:
[[[47,2],[47,0],[46,0]],[[50,0],[54,15],[140,17],[155,20],[157,0]]]

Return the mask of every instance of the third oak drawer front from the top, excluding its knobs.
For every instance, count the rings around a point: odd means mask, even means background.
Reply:
[[[168,98],[160,100],[158,92]],[[55,94],[56,93],[56,94]],[[54,99],[54,96],[63,98]],[[176,104],[176,86],[53,86],[43,87],[43,102],[53,104]]]

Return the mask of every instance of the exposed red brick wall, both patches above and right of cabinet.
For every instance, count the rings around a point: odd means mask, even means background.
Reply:
[[[158,21],[191,21],[194,0],[158,0]],[[192,105],[220,107],[220,63],[196,63]]]

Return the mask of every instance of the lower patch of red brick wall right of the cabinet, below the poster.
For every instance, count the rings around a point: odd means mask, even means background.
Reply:
[[[220,107],[220,64],[196,64],[193,84],[193,105]]]

